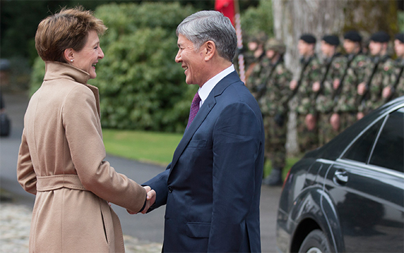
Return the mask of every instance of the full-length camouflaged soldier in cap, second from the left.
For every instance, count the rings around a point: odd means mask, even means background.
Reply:
[[[282,169],[286,165],[288,102],[292,91],[289,83],[292,74],[284,65],[283,54],[286,47],[282,41],[269,39],[265,44],[265,71],[261,80],[265,84],[265,93],[258,104],[262,112],[265,129],[265,159],[271,159],[271,175],[263,180],[269,186],[282,185]]]

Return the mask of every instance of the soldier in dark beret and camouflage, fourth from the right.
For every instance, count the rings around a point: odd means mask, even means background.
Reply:
[[[331,124],[331,115],[335,107],[333,83],[339,80],[347,63],[346,57],[337,52],[339,39],[335,35],[326,35],[322,39],[322,54],[324,56],[323,76],[313,84],[313,91],[317,93],[315,102],[318,117],[319,146],[329,142],[339,133],[339,126]]]

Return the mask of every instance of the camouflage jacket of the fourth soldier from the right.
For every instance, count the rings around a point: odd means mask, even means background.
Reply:
[[[316,110],[319,113],[330,113],[333,111],[335,107],[335,89],[333,87],[333,83],[335,79],[341,79],[344,75],[344,70],[346,68],[346,63],[348,62],[347,58],[344,56],[333,56],[330,60],[331,63],[327,61],[323,65],[323,76],[322,80],[322,87],[318,92],[317,99],[315,101]],[[326,70],[327,65],[330,64],[328,67],[328,72]],[[326,75],[326,76],[324,76]]]

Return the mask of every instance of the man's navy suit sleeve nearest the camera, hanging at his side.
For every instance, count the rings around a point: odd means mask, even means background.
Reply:
[[[260,115],[245,103],[225,107],[214,126],[213,207],[208,252],[238,252],[262,168]],[[257,173],[260,173],[257,177]]]

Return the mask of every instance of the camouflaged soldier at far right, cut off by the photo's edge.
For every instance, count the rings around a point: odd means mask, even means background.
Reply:
[[[394,98],[404,96],[404,33],[396,34],[394,39],[396,62],[394,82],[383,89],[383,99],[388,102]]]

